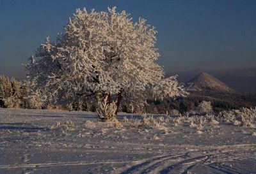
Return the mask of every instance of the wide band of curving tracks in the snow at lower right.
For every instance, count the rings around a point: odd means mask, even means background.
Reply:
[[[232,149],[232,150],[230,150]],[[189,173],[194,166],[204,166],[218,173],[248,173],[225,161],[243,160],[256,152],[255,145],[230,146],[222,149],[195,150],[179,155],[153,157],[134,166],[128,166],[122,172],[127,173]],[[199,155],[200,154],[200,155]]]

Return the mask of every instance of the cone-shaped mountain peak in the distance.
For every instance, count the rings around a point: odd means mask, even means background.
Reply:
[[[225,83],[208,73],[200,73],[186,83],[188,91],[218,91],[218,92],[235,92]]]

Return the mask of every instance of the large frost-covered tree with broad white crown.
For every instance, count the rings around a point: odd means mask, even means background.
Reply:
[[[79,99],[108,98],[144,103],[148,94],[156,98],[186,94],[176,76],[164,78],[154,27],[139,18],[133,22],[125,11],[76,10],[56,41],[45,42],[31,56],[28,79],[45,101],[68,104]],[[98,100],[98,101],[97,101]],[[111,105],[113,106],[113,105]],[[114,107],[115,108],[115,107]]]

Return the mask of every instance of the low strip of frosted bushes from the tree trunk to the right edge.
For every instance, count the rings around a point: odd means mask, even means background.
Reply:
[[[241,110],[230,110],[220,112],[218,115],[183,115],[180,117],[153,117],[142,115],[141,120],[124,118],[125,123],[137,126],[148,126],[157,129],[164,129],[170,126],[186,125],[191,128],[201,129],[204,124],[220,124],[220,122],[232,122],[235,126],[255,127],[256,122],[256,108],[241,108]]]

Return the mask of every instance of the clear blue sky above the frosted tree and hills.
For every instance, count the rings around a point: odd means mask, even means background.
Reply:
[[[165,71],[256,66],[256,1],[0,0],[0,73],[24,77],[22,63],[50,36],[55,40],[76,8],[131,13],[156,27]]]

